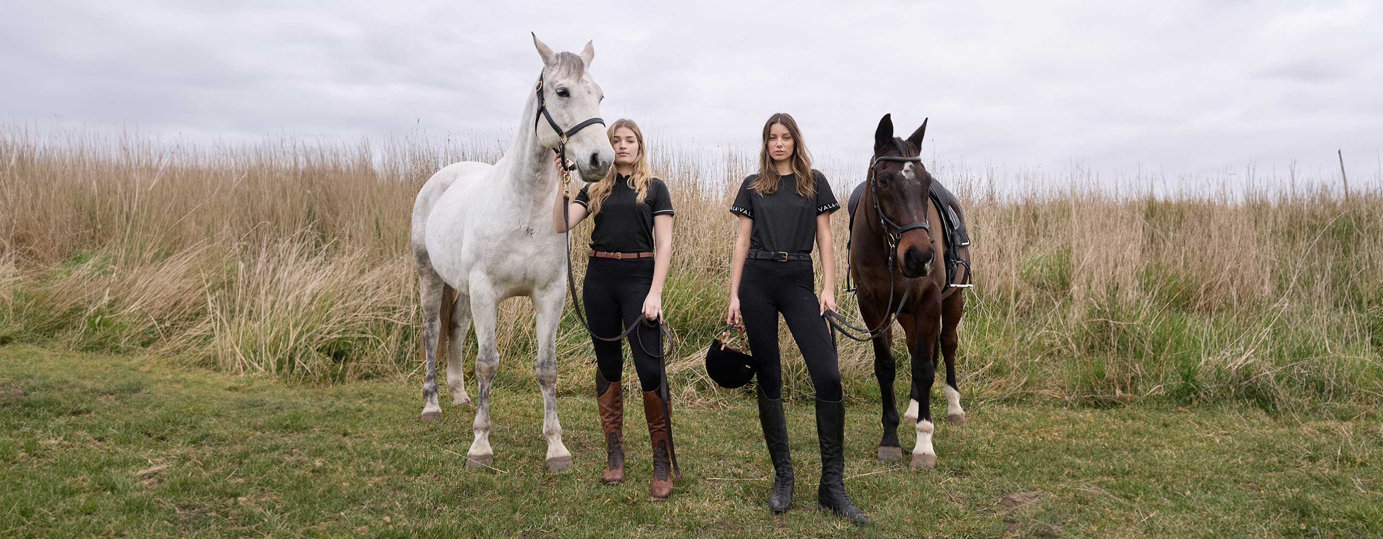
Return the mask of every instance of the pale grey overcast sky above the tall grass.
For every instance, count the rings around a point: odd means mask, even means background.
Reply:
[[[1343,148],[1351,176],[1379,176],[1377,3],[839,4],[7,0],[0,120],[513,131],[532,30],[593,39],[602,115],[660,140],[752,148],[790,112],[813,151],[855,159],[891,112],[900,131],[931,116],[928,153],[981,167],[1329,170]]]

